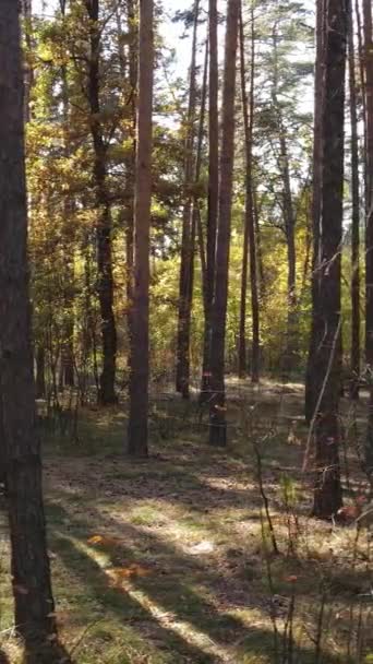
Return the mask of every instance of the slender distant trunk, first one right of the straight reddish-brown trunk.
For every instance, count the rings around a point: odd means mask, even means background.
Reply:
[[[190,67],[190,92],[186,117],[186,138],[184,156],[184,209],[182,215],[181,264],[179,284],[179,319],[177,341],[176,389],[184,399],[189,399],[190,389],[190,325],[191,325],[191,284],[193,262],[193,197],[192,183],[194,174],[195,143],[195,104],[196,104],[196,39],[200,14],[200,0],[194,2],[194,24],[192,39],[192,59]]]

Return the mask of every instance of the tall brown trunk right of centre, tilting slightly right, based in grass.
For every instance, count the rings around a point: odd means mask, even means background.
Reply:
[[[228,0],[222,90],[222,140],[220,155],[218,233],[214,303],[212,317],[212,396],[209,400],[209,442],[227,443],[225,395],[225,341],[228,300],[228,269],[234,159],[236,56],[240,0]]]

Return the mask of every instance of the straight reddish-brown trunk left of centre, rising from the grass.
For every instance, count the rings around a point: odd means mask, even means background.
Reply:
[[[131,325],[128,451],[147,456],[149,376],[149,232],[152,200],[153,0],[140,0],[139,98],[134,203],[134,284]]]

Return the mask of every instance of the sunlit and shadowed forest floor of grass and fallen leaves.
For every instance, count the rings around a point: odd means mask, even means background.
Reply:
[[[159,391],[146,461],[124,456],[119,407],[82,412],[75,442],[45,436],[57,615],[77,664],[373,661],[369,534],[309,515],[302,399],[231,381],[226,450],[206,444],[196,402]],[[342,454],[347,502],[365,490],[356,456]],[[0,652],[16,663],[3,503],[0,521]]]

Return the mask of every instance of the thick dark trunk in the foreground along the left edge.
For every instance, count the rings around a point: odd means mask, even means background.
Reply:
[[[33,664],[60,662],[36,429],[27,281],[23,71],[19,4],[0,3],[0,424],[15,625]]]

